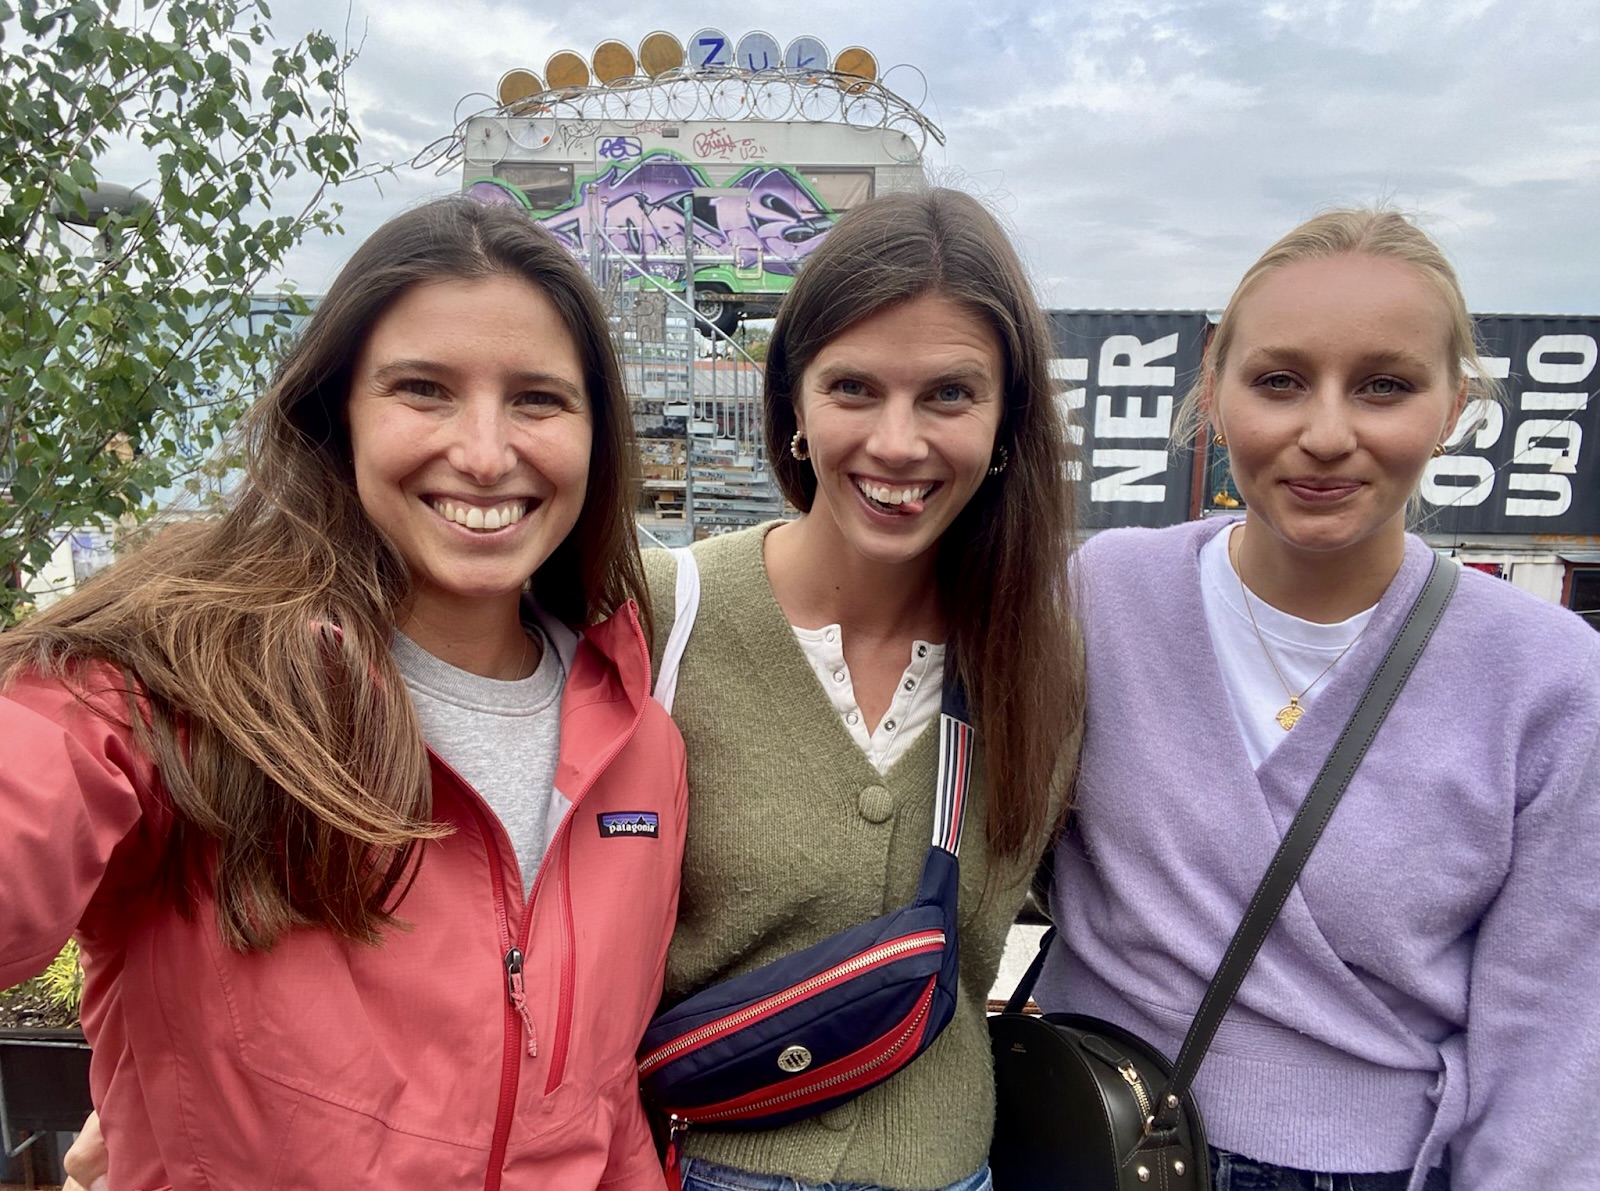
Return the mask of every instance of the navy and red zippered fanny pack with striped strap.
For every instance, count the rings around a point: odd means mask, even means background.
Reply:
[[[682,623],[686,551],[674,554]],[[669,1178],[685,1129],[771,1129],[814,1116],[901,1071],[949,1025],[973,741],[965,695],[947,680],[933,840],[909,904],[701,989],[650,1023],[638,1074],[670,1124]]]

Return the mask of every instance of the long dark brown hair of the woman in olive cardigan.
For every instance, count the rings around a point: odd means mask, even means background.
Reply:
[[[1050,328],[982,205],[955,190],[875,198],[827,234],[773,327],[766,453],[784,496],[808,512],[816,474],[789,451],[806,367],[851,325],[925,295],[982,319],[1005,355],[997,447],[1008,463],[939,541],[938,583],[946,656],[966,685],[987,754],[989,848],[1032,858],[1054,828],[1051,778],[1083,716],[1067,591],[1070,448],[1050,379]]]

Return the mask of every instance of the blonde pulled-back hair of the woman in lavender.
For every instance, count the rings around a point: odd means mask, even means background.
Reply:
[[[1346,253],[1363,253],[1389,261],[1410,264],[1432,287],[1445,304],[1450,320],[1450,379],[1459,384],[1469,375],[1467,395],[1480,400],[1501,400],[1501,384],[1483,368],[1478,351],[1477,328],[1472,314],[1467,311],[1467,299],[1461,293],[1461,280],[1454,266],[1432,237],[1406,219],[1398,211],[1381,208],[1336,208],[1323,211],[1274,243],[1261,258],[1245,271],[1234,296],[1227,299],[1227,307],[1211,333],[1205,357],[1200,362],[1200,375],[1184,394],[1182,405],[1173,418],[1173,447],[1192,445],[1195,435],[1210,419],[1210,394],[1216,387],[1227,363],[1227,354],[1234,346],[1238,327],[1238,304],[1274,269],[1299,261],[1320,261]]]

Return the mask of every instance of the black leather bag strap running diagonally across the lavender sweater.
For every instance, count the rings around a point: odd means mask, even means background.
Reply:
[[[1339,805],[1339,799],[1346,786],[1350,784],[1350,778],[1362,764],[1362,757],[1366,756],[1373,736],[1378,735],[1378,728],[1389,716],[1389,709],[1398,698],[1400,688],[1411,677],[1411,669],[1416,666],[1416,660],[1422,656],[1429,637],[1434,636],[1434,629],[1445,615],[1445,605],[1450,604],[1459,578],[1461,568],[1458,565],[1434,555],[1434,568],[1429,571],[1427,583],[1422,584],[1422,591],[1411,605],[1411,612],[1406,613],[1405,623],[1389,645],[1389,652],[1384,655],[1378,672],[1366,684],[1366,692],[1355,706],[1350,722],[1339,733],[1339,740],[1333,746],[1333,752],[1328,754],[1322,773],[1317,775],[1310,792],[1301,802],[1301,808],[1283,836],[1283,842],[1278,844],[1272,863],[1267,864],[1267,874],[1261,879],[1256,895],[1250,900],[1245,920],[1238,924],[1238,930],[1234,932],[1234,938],[1222,954],[1222,964],[1211,978],[1200,1009],[1189,1025],[1189,1033],[1184,1036],[1178,1061],[1173,1063],[1173,1077],[1162,1089],[1162,1095],[1155,1101],[1157,1116],[1152,1129],[1171,1129],[1178,1124],[1182,1097],[1189,1092],[1189,1084],[1200,1069],[1205,1052],[1210,1049],[1218,1026],[1222,1025],[1222,1017],[1227,1013],[1229,1005],[1234,1004],[1238,986],[1245,983],[1245,973],[1254,964],[1256,952],[1261,951],[1267,932],[1277,922],[1283,903],[1288,901],[1290,890],[1299,880],[1301,869],[1306,868],[1310,850],[1322,837],[1322,829],[1328,826],[1333,810]]]

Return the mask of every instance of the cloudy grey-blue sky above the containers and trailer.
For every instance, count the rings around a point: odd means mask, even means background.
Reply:
[[[1216,307],[1278,234],[1386,200],[1445,245],[1482,312],[1600,314],[1595,0],[278,0],[274,30],[360,42],[349,94],[381,192],[296,253],[320,291],[386,216],[459,186],[406,162],[512,67],[702,26],[862,45],[926,78],[930,174],[1013,229],[1048,306]],[[917,99],[922,80],[890,80]],[[486,102],[486,101],[485,101]]]

